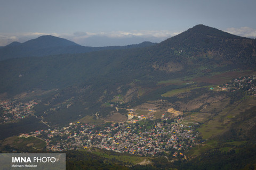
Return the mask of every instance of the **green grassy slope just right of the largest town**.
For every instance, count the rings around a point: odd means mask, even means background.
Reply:
[[[248,141],[220,141],[219,137],[230,130],[232,124],[236,122],[236,117],[256,106],[256,98],[245,97],[243,100],[237,101],[233,105],[227,105],[228,101],[229,98],[225,98],[222,101],[214,103],[214,105],[204,108],[204,113],[198,112],[189,114],[183,120],[184,123],[193,123],[196,121],[204,123],[198,128],[198,132],[201,133],[202,139],[205,142],[196,145],[196,147],[188,151],[188,157],[199,156],[209,149],[218,148],[220,151],[228,152],[246,145]],[[223,103],[223,105],[221,103]],[[220,110],[219,107],[222,108],[222,110]]]

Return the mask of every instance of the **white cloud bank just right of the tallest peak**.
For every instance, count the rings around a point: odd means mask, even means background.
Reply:
[[[256,29],[249,27],[228,28],[226,31],[237,36],[254,38],[256,37]]]

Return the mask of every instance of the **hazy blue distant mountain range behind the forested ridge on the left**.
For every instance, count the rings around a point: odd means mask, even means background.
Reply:
[[[145,41],[140,44],[127,46],[85,47],[67,39],[54,36],[41,36],[36,39],[28,40],[25,43],[14,41],[5,47],[1,47],[0,60],[30,56],[42,57],[57,54],[79,54],[110,49],[138,48],[153,46],[155,44],[157,43]]]

